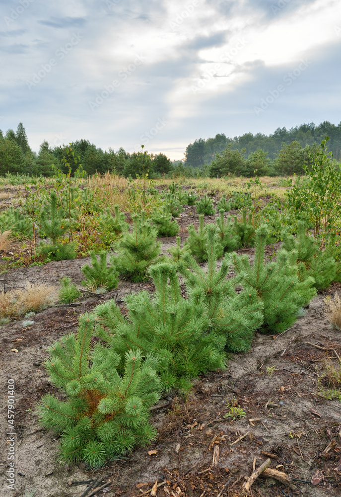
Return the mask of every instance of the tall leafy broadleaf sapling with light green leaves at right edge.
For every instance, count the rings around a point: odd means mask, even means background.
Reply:
[[[341,166],[327,153],[327,140],[322,141],[311,166],[304,166],[306,176],[297,178],[286,192],[287,208],[296,219],[311,225],[317,238],[333,233],[341,218]]]

